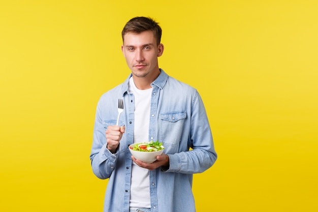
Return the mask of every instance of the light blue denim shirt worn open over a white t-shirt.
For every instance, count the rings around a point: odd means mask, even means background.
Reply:
[[[132,159],[128,146],[133,143],[135,107],[128,89],[131,76],[105,93],[97,105],[90,160],[97,177],[109,178],[104,212],[129,212]],[[193,174],[207,170],[217,158],[202,99],[196,89],[162,69],[151,86],[149,140],[162,142],[170,159],[169,167],[149,171],[151,211],[196,211]],[[116,125],[118,98],[124,100],[119,125],[126,129],[112,154],[106,148],[105,132]]]

